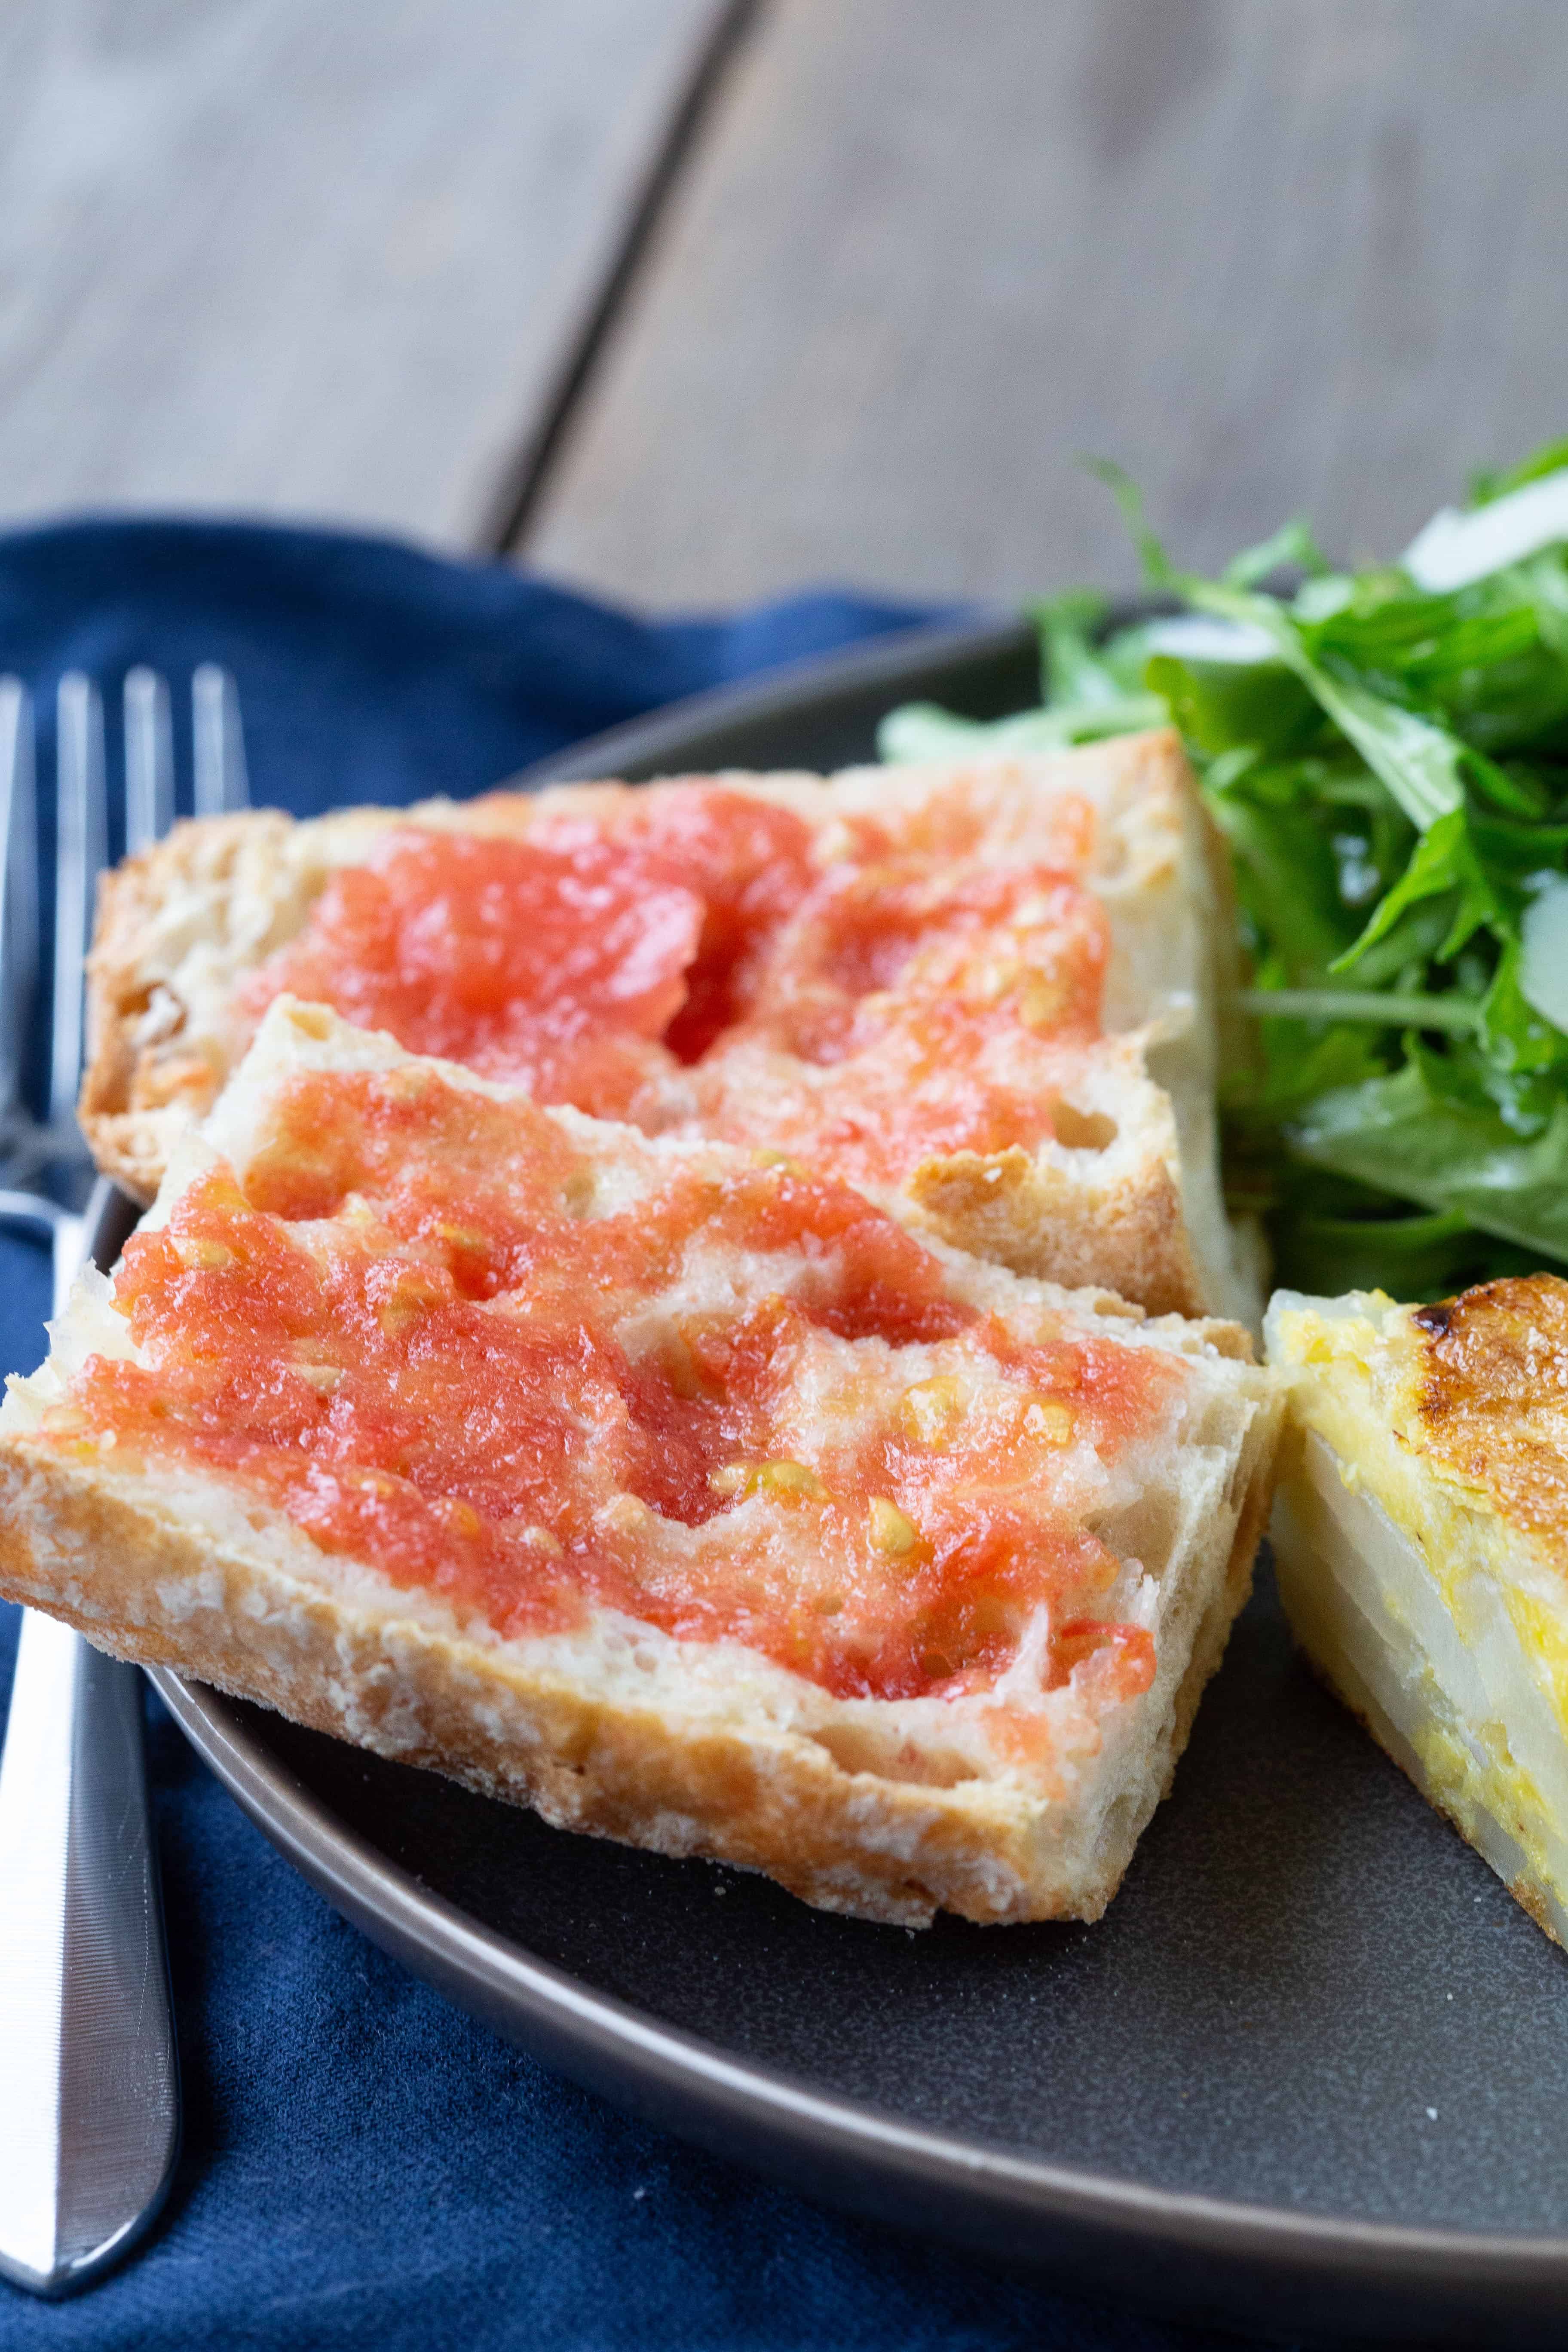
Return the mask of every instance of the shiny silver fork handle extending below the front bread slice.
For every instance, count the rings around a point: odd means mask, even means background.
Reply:
[[[85,1232],[61,1223],[56,1312]],[[0,1759],[0,2274],[68,2296],[167,2194],[179,2058],[141,1672],[33,1611]]]

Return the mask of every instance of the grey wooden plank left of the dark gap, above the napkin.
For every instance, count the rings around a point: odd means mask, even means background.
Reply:
[[[484,541],[726,14],[0,9],[0,510]]]

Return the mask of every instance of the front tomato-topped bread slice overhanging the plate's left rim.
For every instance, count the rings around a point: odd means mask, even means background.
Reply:
[[[1274,1435],[1232,1324],[282,1000],[9,1385],[0,1590],[830,1910],[1093,1919]]]

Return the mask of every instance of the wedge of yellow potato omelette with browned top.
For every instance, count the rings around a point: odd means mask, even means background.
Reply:
[[[1279,1291],[1267,1348],[1298,1642],[1568,1943],[1568,1282],[1432,1308]]]

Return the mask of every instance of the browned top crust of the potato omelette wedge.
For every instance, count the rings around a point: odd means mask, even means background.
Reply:
[[[1418,1442],[1568,1571],[1568,1282],[1483,1282],[1410,1322]]]

